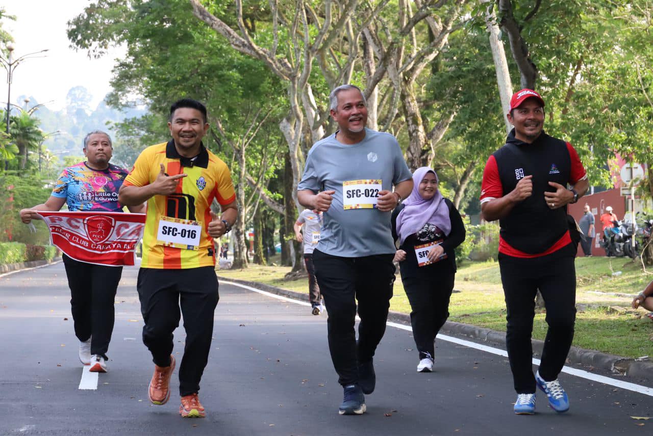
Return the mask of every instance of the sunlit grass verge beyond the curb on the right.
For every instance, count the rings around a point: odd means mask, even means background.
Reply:
[[[251,265],[243,270],[218,270],[218,274],[308,293],[306,278],[283,280],[289,270],[289,267]],[[629,309],[631,296],[644,289],[653,275],[643,272],[641,264],[623,257],[579,257],[576,275],[576,300],[582,306],[577,314],[573,345],[626,357],[653,358],[653,323],[643,316],[644,310]],[[505,331],[505,302],[498,263],[463,263],[456,274],[455,289],[459,292],[451,296],[451,321]],[[399,275],[390,310],[411,312]],[[546,333],[542,311],[535,315],[533,337],[544,340]]]

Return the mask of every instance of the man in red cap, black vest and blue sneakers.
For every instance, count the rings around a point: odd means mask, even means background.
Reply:
[[[544,100],[522,89],[507,114],[515,128],[505,145],[488,158],[483,171],[481,213],[499,220],[499,266],[507,308],[506,348],[517,391],[515,413],[535,413],[535,386],[558,411],[569,400],[558,374],[573,340],[576,271],[567,224],[567,204],[588,188],[587,174],[568,142],[543,130]],[[571,189],[567,189],[567,184]],[[531,334],[535,295],[547,309],[547,338],[533,375]]]

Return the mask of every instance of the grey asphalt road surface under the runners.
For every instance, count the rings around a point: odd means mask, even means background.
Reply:
[[[140,340],[136,268],[116,297],[109,372],[82,381],[63,264],[0,276],[1,435],[650,435],[653,396],[561,374],[571,409],[537,393],[517,416],[507,359],[438,340],[436,371],[417,373],[409,331],[388,327],[377,349],[367,413],[340,416],[326,315],[221,284],[200,400],[205,419],[178,414],[178,379],[163,406],[148,401],[153,364]],[[174,353],[183,351],[183,328]],[[91,387],[90,389],[80,389]],[[646,391],[646,388],[643,388]],[[648,390],[650,392],[650,389]],[[635,420],[631,416],[650,417]]]

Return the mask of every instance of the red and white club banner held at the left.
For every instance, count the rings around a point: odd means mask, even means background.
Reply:
[[[122,212],[46,212],[50,241],[76,261],[121,267],[134,265],[145,214]]]

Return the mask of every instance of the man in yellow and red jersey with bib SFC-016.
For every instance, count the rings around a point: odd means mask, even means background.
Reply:
[[[197,393],[219,298],[213,238],[231,230],[238,209],[229,168],[202,144],[209,128],[206,107],[179,100],[170,106],[168,128],[172,139],[138,156],[118,198],[124,205],[148,202],[136,288],[145,321],[143,342],[155,364],[150,401],[162,405],[170,398],[172,332],[183,313],[179,411],[182,417],[204,417]],[[211,211],[214,199],[221,206],[219,218]]]

